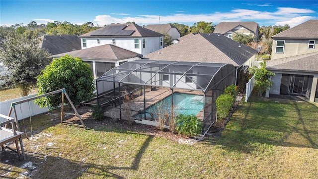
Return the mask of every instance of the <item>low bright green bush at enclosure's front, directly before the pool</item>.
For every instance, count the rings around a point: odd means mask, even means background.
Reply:
[[[202,131],[202,121],[194,114],[179,114],[174,118],[175,130],[178,134],[184,134],[188,137],[198,135]]]

